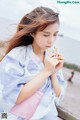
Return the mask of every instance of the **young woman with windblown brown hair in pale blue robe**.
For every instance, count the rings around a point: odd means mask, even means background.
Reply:
[[[22,18],[0,63],[4,111],[41,91],[44,95],[29,120],[57,120],[56,105],[66,89],[61,70],[64,58],[57,52],[48,55],[47,49],[53,46],[58,31],[59,14],[49,8],[37,7]],[[9,116],[10,120],[24,120]]]

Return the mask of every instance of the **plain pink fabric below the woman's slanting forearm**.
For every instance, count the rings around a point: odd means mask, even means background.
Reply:
[[[43,93],[37,91],[34,95],[32,95],[21,104],[15,105],[10,112],[14,115],[25,118],[25,120],[29,120],[39,105],[42,96]]]

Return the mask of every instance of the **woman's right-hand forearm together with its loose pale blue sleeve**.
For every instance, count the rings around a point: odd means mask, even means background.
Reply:
[[[64,99],[66,88],[67,88],[67,82],[64,80],[62,69],[60,69],[56,73],[56,76],[51,75],[51,78],[52,78],[52,85],[53,85],[52,89],[54,89],[53,91],[55,92],[55,104],[58,106],[60,104],[60,101]],[[57,82],[58,82],[57,84],[58,86],[56,85]]]

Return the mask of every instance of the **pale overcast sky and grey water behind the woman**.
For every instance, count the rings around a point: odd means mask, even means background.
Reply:
[[[59,4],[57,0],[0,0],[0,40],[14,32],[20,19],[37,6],[50,7],[60,13],[60,34],[56,41],[65,60],[80,66],[80,5]]]

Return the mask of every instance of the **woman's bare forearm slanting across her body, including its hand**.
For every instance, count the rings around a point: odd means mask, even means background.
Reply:
[[[24,85],[17,98],[16,104],[21,103],[42,87],[46,79],[53,74],[55,66],[58,64],[58,60],[54,59],[54,57],[50,57],[45,60],[44,64],[44,70]]]

